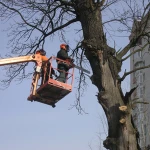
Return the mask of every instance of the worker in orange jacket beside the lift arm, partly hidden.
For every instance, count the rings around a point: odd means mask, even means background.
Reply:
[[[46,51],[43,49],[37,50],[36,54],[40,54],[42,56],[42,70],[41,70],[41,77],[42,77],[42,84],[44,79],[44,72],[46,71],[45,76],[45,82],[49,79],[49,73],[50,73],[50,62],[48,61],[48,58],[46,57]],[[52,75],[56,75],[54,69],[51,67],[51,74],[50,78],[53,78]]]

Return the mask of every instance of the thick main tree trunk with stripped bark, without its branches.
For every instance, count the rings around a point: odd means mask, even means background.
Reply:
[[[119,110],[125,105],[125,97],[118,82],[121,68],[114,56],[114,49],[107,45],[104,36],[101,12],[91,0],[78,5],[76,9],[83,29],[85,55],[90,62],[93,76],[91,80],[98,88],[98,100],[108,120],[108,137],[104,146],[110,150],[137,150],[136,132],[131,122],[131,109]],[[127,105],[127,104],[126,104]],[[120,123],[124,118],[125,122]]]

